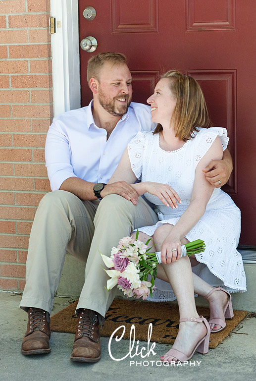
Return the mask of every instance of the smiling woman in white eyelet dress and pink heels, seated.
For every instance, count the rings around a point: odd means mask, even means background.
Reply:
[[[240,211],[226,193],[205,179],[203,169],[211,160],[222,158],[228,138],[226,129],[208,128],[199,84],[190,76],[169,71],[147,102],[158,125],[154,133],[139,132],[132,139],[109,183],[126,180],[156,206],[161,220],[139,228],[139,239],[146,242],[152,237],[150,245],[161,252],[157,277],[172,286],[180,312],[177,338],[161,360],[186,361],[195,349],[207,352],[209,331],[223,329],[225,317],[232,318],[233,311],[229,292],[192,273],[189,258],[181,258],[181,244],[203,239],[205,252],[197,254],[193,264],[205,264],[218,284],[229,290],[246,291],[236,250]],[[137,179],[142,182],[134,184]],[[210,326],[197,314],[194,291],[209,302]]]

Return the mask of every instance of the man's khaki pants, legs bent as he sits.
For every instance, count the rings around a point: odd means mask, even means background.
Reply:
[[[37,307],[51,313],[66,251],[86,261],[85,283],[77,309],[89,308],[105,315],[115,297],[107,291],[109,278],[101,254],[110,256],[112,246],[133,229],[158,220],[139,197],[135,206],[118,195],[99,203],[81,201],[73,193],[58,190],[46,194],[39,204],[30,233],[26,285],[20,307]],[[75,279],[74,279],[75,281]]]

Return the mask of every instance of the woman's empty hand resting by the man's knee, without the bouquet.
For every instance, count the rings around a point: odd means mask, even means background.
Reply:
[[[170,206],[172,209],[178,208],[177,201],[181,204],[181,199],[178,193],[167,184],[147,181],[145,182],[145,190],[146,192],[157,196],[164,205],[167,207]]]

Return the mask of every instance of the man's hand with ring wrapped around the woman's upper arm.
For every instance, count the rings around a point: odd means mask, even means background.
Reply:
[[[232,162],[227,160],[213,160],[204,169],[205,178],[215,188],[226,184],[232,172]]]

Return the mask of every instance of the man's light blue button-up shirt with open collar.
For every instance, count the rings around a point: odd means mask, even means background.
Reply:
[[[59,189],[69,177],[107,183],[129,141],[138,131],[155,128],[150,107],[132,102],[107,139],[106,130],[94,123],[92,106],[93,101],[52,121],[45,152],[51,190]]]

